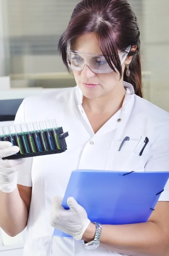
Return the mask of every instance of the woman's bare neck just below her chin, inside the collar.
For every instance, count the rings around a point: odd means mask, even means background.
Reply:
[[[93,114],[116,113],[123,105],[126,90],[124,86],[115,87],[107,95],[96,99],[83,97],[83,108]]]

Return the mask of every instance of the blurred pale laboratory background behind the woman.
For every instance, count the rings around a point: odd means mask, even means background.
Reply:
[[[57,44],[78,2],[0,0],[0,125],[13,120],[20,99],[76,86]],[[169,111],[169,0],[129,3],[141,32],[144,98]],[[0,256],[22,255],[24,234],[10,238],[1,230]]]

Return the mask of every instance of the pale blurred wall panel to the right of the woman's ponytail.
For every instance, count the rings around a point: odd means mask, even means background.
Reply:
[[[169,111],[169,0],[143,0],[145,70],[152,72],[152,102]]]

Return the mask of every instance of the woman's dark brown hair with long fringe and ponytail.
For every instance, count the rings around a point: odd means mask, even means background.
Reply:
[[[137,47],[136,51],[131,50],[128,55],[133,56],[129,67],[130,76],[126,76],[125,68],[123,79],[133,85],[135,94],[142,97],[140,32],[137,18],[127,0],[82,0],[77,4],[58,45],[58,50],[69,72],[68,42],[73,44],[79,36],[88,33],[96,34],[101,52],[109,66],[114,71],[118,70],[120,78],[122,69],[118,50],[125,51],[129,46]]]

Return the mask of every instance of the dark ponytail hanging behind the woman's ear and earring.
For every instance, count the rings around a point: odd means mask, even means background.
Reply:
[[[127,67],[124,70],[124,81],[133,85],[135,94],[143,98],[142,94],[142,78],[141,78],[141,55],[138,52],[133,56],[133,59],[129,65],[130,76],[126,75]]]

